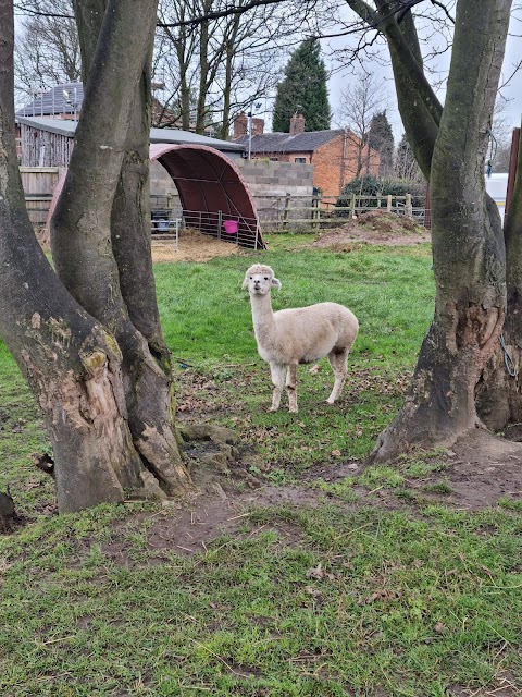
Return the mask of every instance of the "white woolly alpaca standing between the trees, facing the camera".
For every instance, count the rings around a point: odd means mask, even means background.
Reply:
[[[270,266],[254,264],[245,276],[243,288],[250,293],[253,330],[258,352],[270,365],[274,393],[269,412],[279,407],[285,384],[290,412],[297,412],[297,366],[328,357],[335,375],[326,402],[339,396],[346,379],[348,353],[359,332],[357,317],[344,305],[318,303],[308,307],[272,311],[270,291],[281,289]]]

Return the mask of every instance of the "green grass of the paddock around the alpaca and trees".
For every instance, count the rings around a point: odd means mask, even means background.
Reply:
[[[428,247],[336,254],[307,249],[304,236],[269,242],[262,255],[156,268],[179,421],[231,427],[254,447],[257,488],[236,477],[237,494],[190,510],[132,502],[57,516],[52,482],[29,458],[49,448],[46,433],[0,348],[0,490],[23,516],[0,535],[2,697],[511,697],[522,687],[520,501],[459,510],[439,452],[357,473],[400,405],[431,319]],[[359,318],[333,408],[323,360],[316,374],[299,370],[298,415],[265,411],[269,369],[240,289],[261,256],[283,283],[274,308],[331,299]],[[222,525],[206,528],[210,515]],[[196,553],[181,541],[182,518],[189,537],[207,533]]]

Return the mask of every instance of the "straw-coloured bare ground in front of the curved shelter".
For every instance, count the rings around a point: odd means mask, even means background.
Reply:
[[[195,230],[183,230],[176,250],[176,240],[158,240],[152,237],[152,261],[209,261],[215,257],[228,257],[241,254],[241,247],[231,242],[223,242]]]

